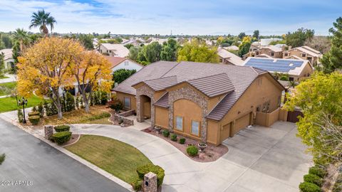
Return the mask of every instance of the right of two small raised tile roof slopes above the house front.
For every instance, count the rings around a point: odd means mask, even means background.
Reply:
[[[187,82],[208,97],[222,95],[235,90],[234,85],[229,80],[227,73],[210,75],[204,78],[188,80]]]

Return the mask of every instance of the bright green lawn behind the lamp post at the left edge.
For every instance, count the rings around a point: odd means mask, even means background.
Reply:
[[[36,95],[29,97],[27,100],[27,106],[25,107],[33,107],[38,105],[39,102],[43,101],[41,97],[37,97]],[[9,112],[14,110],[18,110],[18,106],[16,105],[16,97],[0,98],[0,112]]]

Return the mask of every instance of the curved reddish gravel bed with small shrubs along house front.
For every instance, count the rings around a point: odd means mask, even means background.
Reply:
[[[207,144],[207,148],[204,149],[204,152],[200,152],[197,156],[189,156],[187,154],[187,146],[189,145],[195,145],[198,148],[199,141],[195,139],[190,139],[188,137],[182,137],[181,135],[177,134],[177,142],[171,141],[170,137],[164,137],[161,133],[157,132],[155,129],[152,129],[152,127],[149,127],[147,129],[143,129],[142,132],[147,132],[148,134],[152,134],[156,137],[160,137],[161,139],[164,139],[165,141],[169,142],[173,146],[175,146],[177,149],[182,151],[183,154],[188,156],[190,159],[194,161],[199,162],[211,162],[216,161],[221,156],[226,154],[228,152],[228,147],[220,144],[219,146],[214,146],[212,144]],[[171,135],[172,133],[170,133]],[[178,141],[180,138],[185,138],[185,144],[180,144]]]

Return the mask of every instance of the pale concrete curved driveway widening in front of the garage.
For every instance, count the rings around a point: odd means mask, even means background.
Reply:
[[[135,146],[165,169],[163,191],[299,191],[311,162],[289,122],[244,129],[224,142],[227,154],[209,163],[192,161],[165,140],[128,127],[75,124],[71,131]]]

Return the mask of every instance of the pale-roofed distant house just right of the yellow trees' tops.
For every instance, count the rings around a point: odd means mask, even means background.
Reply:
[[[130,50],[123,44],[101,43],[100,46],[98,46],[98,52],[103,55],[125,58],[130,53]]]

